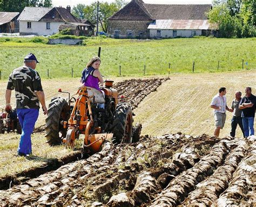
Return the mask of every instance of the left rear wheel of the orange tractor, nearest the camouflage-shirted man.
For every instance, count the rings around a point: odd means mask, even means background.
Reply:
[[[62,143],[62,139],[66,137],[67,129],[64,129],[60,122],[68,121],[68,119],[68,102],[62,97],[53,98],[49,104],[48,115],[45,120],[45,137],[50,146]]]

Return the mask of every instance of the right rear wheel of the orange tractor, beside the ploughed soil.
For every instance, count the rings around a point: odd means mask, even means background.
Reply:
[[[119,103],[114,114],[113,143],[131,143],[132,141],[132,109],[127,103]]]

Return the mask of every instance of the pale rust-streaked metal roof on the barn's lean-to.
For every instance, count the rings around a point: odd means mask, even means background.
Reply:
[[[156,30],[209,30],[208,20],[202,19],[157,19],[147,29]]]

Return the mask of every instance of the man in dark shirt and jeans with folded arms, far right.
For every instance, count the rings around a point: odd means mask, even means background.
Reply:
[[[245,137],[254,135],[254,116],[255,116],[256,97],[252,94],[252,88],[245,88],[245,96],[241,99],[239,109],[242,109],[242,126],[244,127]]]

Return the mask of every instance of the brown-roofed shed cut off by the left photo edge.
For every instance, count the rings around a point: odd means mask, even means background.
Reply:
[[[0,12],[0,33],[19,32],[19,12]]]

